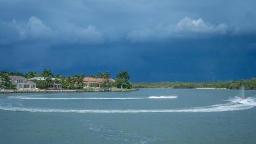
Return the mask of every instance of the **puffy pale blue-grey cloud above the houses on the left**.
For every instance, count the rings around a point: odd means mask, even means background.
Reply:
[[[46,26],[38,17],[32,16],[26,23],[20,23],[13,20],[9,23],[2,24],[7,32],[12,32],[11,36],[3,34],[1,44],[10,44],[11,42],[20,42],[26,40],[47,40],[50,42],[67,42],[67,43],[89,43],[102,42],[102,34],[94,26],[80,28],[69,26],[65,30],[53,30]]]

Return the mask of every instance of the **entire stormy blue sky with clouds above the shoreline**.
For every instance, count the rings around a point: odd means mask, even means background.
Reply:
[[[0,70],[131,81],[256,77],[254,0],[0,0]]]

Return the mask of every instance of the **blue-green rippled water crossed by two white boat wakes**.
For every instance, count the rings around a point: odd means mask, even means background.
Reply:
[[[240,96],[229,89],[1,94],[0,143],[255,143],[256,91]]]

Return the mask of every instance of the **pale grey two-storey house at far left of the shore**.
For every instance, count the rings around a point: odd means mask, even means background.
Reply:
[[[22,76],[9,76],[16,89],[36,89],[36,83]]]

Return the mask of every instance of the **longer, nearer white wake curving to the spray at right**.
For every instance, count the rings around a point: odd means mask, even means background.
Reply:
[[[1,106],[0,110],[10,110],[18,112],[66,112],[66,113],[164,113],[164,112],[229,112],[235,110],[248,110],[256,106],[255,98],[242,99],[234,97],[228,100],[227,104],[216,104],[212,106],[195,107],[195,108],[181,108],[181,109],[127,109],[127,110],[79,110],[79,109],[55,109],[55,108],[22,108],[12,106]]]

